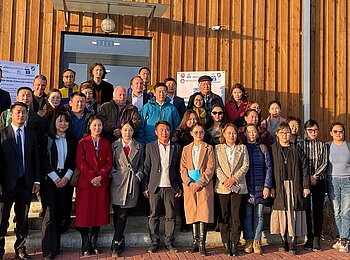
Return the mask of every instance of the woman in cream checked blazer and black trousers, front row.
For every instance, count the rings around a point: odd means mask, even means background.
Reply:
[[[216,184],[215,192],[220,201],[220,233],[227,255],[237,256],[240,238],[242,194],[247,194],[245,175],[249,169],[247,147],[241,144],[237,128],[228,123],[222,130],[220,144],[215,146]]]

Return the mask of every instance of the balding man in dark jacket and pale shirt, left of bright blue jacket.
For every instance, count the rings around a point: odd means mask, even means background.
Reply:
[[[143,91],[143,84],[143,80],[140,76],[133,77],[130,80],[131,93],[129,93],[127,96],[127,100],[130,102],[130,104],[133,104],[135,107],[137,107],[137,110],[139,112],[150,99],[149,94]]]

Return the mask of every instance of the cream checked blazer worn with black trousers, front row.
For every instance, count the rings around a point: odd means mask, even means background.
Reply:
[[[244,144],[235,145],[235,154],[232,162],[232,171],[228,164],[226,149],[224,144],[218,144],[215,146],[216,157],[216,184],[215,192],[219,194],[229,194],[224,182],[234,177],[237,180],[237,184],[240,187],[239,194],[248,193],[247,183],[245,175],[249,169],[249,155],[247,147]]]

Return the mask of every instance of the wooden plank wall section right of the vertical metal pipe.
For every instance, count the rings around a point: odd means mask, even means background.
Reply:
[[[350,4],[346,0],[311,1],[311,116],[329,140],[329,125],[350,128]]]

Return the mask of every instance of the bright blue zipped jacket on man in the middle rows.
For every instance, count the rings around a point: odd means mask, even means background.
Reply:
[[[140,112],[141,126],[137,141],[146,145],[157,140],[155,134],[155,124],[160,120],[165,120],[170,123],[170,131],[173,131],[180,124],[180,116],[176,107],[170,103],[170,98],[166,98],[164,104],[160,106],[154,99],[148,100]]]

